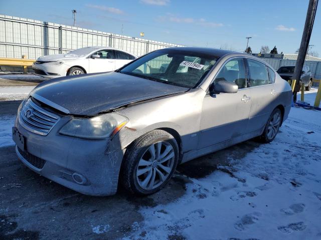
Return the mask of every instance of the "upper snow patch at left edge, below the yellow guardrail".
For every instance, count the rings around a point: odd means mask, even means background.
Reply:
[[[0,99],[22,100],[35,86],[2,86],[0,87]]]

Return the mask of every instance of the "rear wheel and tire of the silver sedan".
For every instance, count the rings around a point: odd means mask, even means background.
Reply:
[[[278,115],[278,118],[273,118],[273,117],[277,117],[277,115]],[[273,124],[273,121],[274,121],[274,124]],[[258,139],[264,143],[273,141],[273,139],[277,134],[277,131],[279,130],[281,122],[282,122],[281,110],[279,108],[275,108],[266,122],[262,135],[260,135]]]

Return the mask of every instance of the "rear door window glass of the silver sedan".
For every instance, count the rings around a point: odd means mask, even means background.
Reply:
[[[269,75],[265,64],[252,59],[247,59],[247,62],[250,72],[250,86],[269,84]]]

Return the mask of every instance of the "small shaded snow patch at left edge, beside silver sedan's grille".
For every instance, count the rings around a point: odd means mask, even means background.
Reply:
[[[14,145],[12,139],[12,127],[15,124],[16,116],[0,115],[0,147]]]

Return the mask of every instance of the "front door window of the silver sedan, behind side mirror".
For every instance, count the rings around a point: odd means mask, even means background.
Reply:
[[[246,87],[245,66],[243,58],[228,61],[215,78],[217,81],[230,81],[238,85],[239,89]]]

